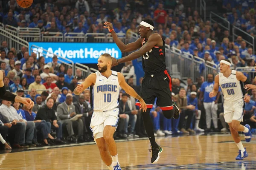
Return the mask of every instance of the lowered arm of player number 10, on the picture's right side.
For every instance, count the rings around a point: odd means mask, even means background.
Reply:
[[[117,73],[117,77],[118,77],[118,82],[121,88],[124,89],[124,91],[130,96],[133,96],[135,99],[140,100],[140,104],[141,104],[140,109],[142,109],[143,111],[146,111],[147,110],[146,103],[144,102],[142,97],[139,94],[137,94],[136,91],[133,88],[131,88],[131,86],[127,84],[127,82],[125,81],[125,77],[121,73]]]

